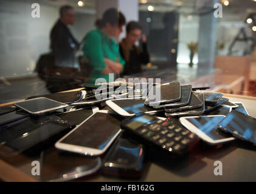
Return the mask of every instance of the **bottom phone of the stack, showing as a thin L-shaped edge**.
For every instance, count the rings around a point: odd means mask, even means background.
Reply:
[[[184,115],[201,115],[204,113],[205,104],[204,104],[204,93],[198,92],[198,98],[202,102],[202,107],[196,109],[189,109],[189,110],[181,110],[179,112],[165,112],[165,116],[184,116]]]

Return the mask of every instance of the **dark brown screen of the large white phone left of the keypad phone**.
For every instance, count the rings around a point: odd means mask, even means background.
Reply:
[[[98,112],[64,138],[61,143],[102,150],[119,130],[118,119],[111,114]]]

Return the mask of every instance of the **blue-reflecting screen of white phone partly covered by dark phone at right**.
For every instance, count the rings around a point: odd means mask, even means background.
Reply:
[[[199,118],[187,118],[187,121],[195,125],[199,130],[206,133],[214,140],[229,138],[230,135],[218,129],[218,124],[224,116],[201,116]]]

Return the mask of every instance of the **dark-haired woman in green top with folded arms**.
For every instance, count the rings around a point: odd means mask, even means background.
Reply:
[[[97,29],[86,35],[83,46],[83,58],[92,67],[90,82],[97,78],[109,81],[108,73],[119,74],[123,70],[125,61],[119,53],[119,45],[114,38],[118,38],[125,25],[125,17],[116,8],[109,8],[103,13],[102,19],[97,20]]]

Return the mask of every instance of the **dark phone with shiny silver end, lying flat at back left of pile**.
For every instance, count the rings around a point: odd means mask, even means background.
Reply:
[[[54,101],[63,102],[66,104],[71,104],[74,102],[79,102],[86,96],[85,90],[75,91],[75,92],[58,92],[58,93],[51,93],[49,95],[39,95],[39,96],[31,96],[27,99],[45,97],[52,99]]]

